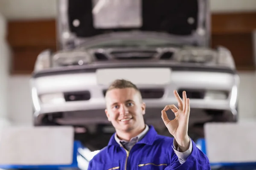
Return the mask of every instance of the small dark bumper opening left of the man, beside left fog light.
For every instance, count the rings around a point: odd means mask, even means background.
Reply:
[[[91,96],[89,91],[75,91],[75,92],[64,93],[64,98],[66,102],[89,100],[90,97]]]

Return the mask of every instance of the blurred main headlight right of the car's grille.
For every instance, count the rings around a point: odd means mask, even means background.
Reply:
[[[212,63],[217,62],[217,52],[207,48],[184,48],[177,54],[179,62]]]

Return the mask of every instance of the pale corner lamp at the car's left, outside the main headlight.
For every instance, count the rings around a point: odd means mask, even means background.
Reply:
[[[52,51],[49,49],[42,51],[36,59],[34,70],[41,71],[51,67],[51,55]]]

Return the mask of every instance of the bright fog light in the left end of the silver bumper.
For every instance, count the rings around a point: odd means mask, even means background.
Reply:
[[[65,102],[64,94],[62,93],[42,94],[40,95],[40,100],[42,103],[51,103],[51,104],[59,104],[59,103]]]

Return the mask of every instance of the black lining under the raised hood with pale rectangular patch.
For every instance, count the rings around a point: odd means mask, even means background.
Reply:
[[[190,35],[198,27],[198,0],[69,0],[67,11],[78,37],[131,30]]]

